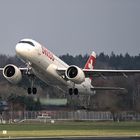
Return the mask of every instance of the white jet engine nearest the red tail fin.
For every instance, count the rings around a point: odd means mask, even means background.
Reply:
[[[82,69],[80,69],[77,66],[70,66],[65,73],[66,77],[71,80],[72,82],[76,83],[76,84],[81,84],[82,82],[85,81],[85,74],[82,71]]]

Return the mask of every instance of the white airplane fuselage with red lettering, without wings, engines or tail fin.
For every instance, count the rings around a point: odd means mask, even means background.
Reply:
[[[30,41],[30,40],[29,40]],[[63,90],[76,86],[79,91],[89,90],[90,83],[85,80],[82,84],[74,84],[65,80],[57,73],[57,68],[68,68],[65,62],[55,56],[40,43],[32,40],[33,45],[27,43],[18,43],[16,45],[16,54],[24,62],[29,63],[34,75],[47,83],[48,85],[60,87]],[[87,87],[88,86],[88,87]],[[89,91],[88,91],[89,92]]]

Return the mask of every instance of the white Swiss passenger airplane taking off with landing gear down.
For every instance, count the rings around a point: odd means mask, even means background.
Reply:
[[[94,87],[91,85],[92,78],[101,76],[127,77],[140,70],[105,70],[94,69],[96,54],[92,52],[87,60],[85,67],[79,68],[76,65],[69,66],[50,50],[45,48],[39,42],[33,39],[22,39],[16,47],[16,55],[25,64],[26,67],[17,67],[8,64],[4,68],[3,76],[11,83],[17,84],[21,81],[24,74],[28,75],[31,85],[28,87],[28,94],[36,94],[35,77],[44,81],[47,85],[67,91],[69,95],[78,95],[79,93],[94,94],[96,90],[123,90],[120,87]]]

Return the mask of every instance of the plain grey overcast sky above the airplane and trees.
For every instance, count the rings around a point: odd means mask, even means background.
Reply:
[[[57,55],[140,53],[140,0],[0,0],[0,53],[23,38]]]

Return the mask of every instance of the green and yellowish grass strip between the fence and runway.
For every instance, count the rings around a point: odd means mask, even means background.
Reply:
[[[3,130],[7,134],[3,134]],[[56,122],[54,124],[3,124],[3,137],[140,136],[140,122]]]

